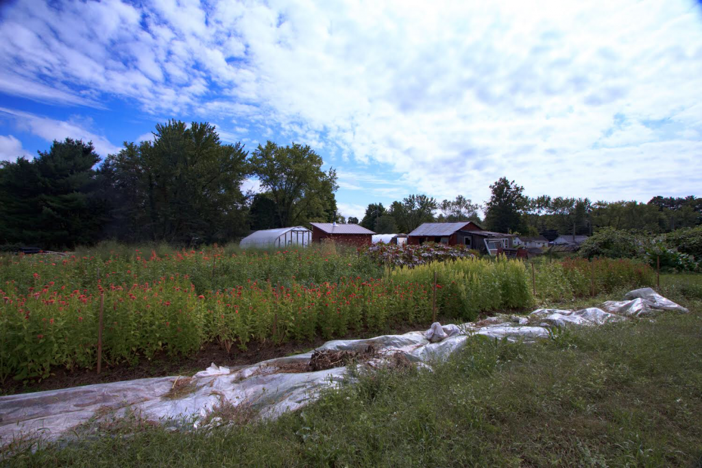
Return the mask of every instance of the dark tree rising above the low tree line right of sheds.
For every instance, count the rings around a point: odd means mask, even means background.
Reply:
[[[519,231],[527,203],[523,194],[524,187],[503,177],[491,185],[490,189],[492,195],[485,204],[486,228],[496,232]]]

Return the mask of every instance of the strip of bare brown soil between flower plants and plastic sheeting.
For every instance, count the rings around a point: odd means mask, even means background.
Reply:
[[[441,321],[440,317],[439,321]],[[452,323],[453,321],[446,321],[446,323]],[[442,323],[444,323],[444,321],[442,321]],[[380,330],[380,332],[365,331],[357,334],[348,334],[338,339],[359,340],[376,337],[378,335],[401,334],[413,330],[428,329],[430,325],[430,323],[404,324],[395,328]],[[270,342],[263,344],[252,343],[246,351],[241,351],[233,347],[230,353],[227,353],[216,343],[209,343],[205,345],[204,349],[201,349],[191,356],[168,356],[164,352],[154,356],[151,361],[140,359],[134,366],[120,364],[103,368],[100,375],[98,375],[95,370],[69,371],[65,368],[55,368],[52,370],[51,376],[41,382],[27,382],[23,384],[22,382],[17,382],[12,380],[11,377],[8,377],[5,382],[0,382],[0,396],[79,387],[81,385],[120,382],[122,380],[135,380],[147,377],[193,375],[200,370],[205,370],[211,363],[216,363],[218,366],[244,367],[260,361],[266,361],[267,359],[307,352],[310,351],[310,349],[324,345],[326,341],[328,340],[317,337],[312,342],[287,342],[282,345],[275,345]]]

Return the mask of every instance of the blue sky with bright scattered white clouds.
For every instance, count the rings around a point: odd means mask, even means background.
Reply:
[[[413,193],[702,196],[702,5],[630,1],[15,1],[0,160],[102,157],[168,119],[310,145],[340,214]],[[246,188],[256,188],[256,180]]]

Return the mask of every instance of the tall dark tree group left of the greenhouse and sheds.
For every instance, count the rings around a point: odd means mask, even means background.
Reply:
[[[336,171],[307,145],[220,142],[208,123],[168,121],[100,163],[91,142],[54,141],[0,165],[0,244],[64,248],[101,239],[179,244],[333,221]],[[247,178],[262,193],[243,193]]]

